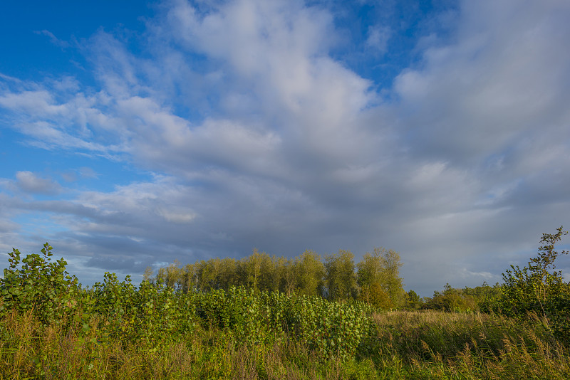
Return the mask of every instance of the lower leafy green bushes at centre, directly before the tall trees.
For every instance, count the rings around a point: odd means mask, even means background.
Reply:
[[[365,304],[316,296],[232,287],[197,293],[195,305],[204,328],[227,330],[237,344],[271,345],[288,333],[325,356],[352,356],[370,328]]]

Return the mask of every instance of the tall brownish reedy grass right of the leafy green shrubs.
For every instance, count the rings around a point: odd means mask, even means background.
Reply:
[[[388,312],[373,358],[380,371],[414,379],[570,379],[569,350],[546,320],[449,312]]]

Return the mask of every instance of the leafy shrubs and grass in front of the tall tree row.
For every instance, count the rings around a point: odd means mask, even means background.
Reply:
[[[380,312],[112,273],[84,289],[42,253],[19,266],[14,250],[0,279],[0,380],[570,379],[567,340],[544,313]]]

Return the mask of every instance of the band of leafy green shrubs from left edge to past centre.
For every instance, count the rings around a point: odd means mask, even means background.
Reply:
[[[77,312],[70,322],[79,326],[78,342],[92,344],[90,349],[112,340],[157,352],[157,342],[177,342],[202,328],[222,331],[237,345],[271,347],[282,339],[294,339],[326,357],[353,357],[370,331],[372,310],[362,302],[328,302],[318,296],[259,291],[259,287],[175,291],[172,273],[177,266],[159,272],[156,283],[142,281],[138,288],[129,276],[119,281],[114,273],[105,273],[102,283],[81,289],[76,278],[64,276],[65,261],[49,263],[50,250],[46,244],[44,257],[28,255],[21,269],[19,252],[14,250],[1,283],[0,315],[11,310],[32,312],[48,324],[70,315],[73,305]],[[269,260],[264,255],[256,258],[261,265],[264,260],[274,262],[269,256]],[[268,281],[256,275],[250,279],[257,284]],[[93,329],[97,333],[92,336]]]

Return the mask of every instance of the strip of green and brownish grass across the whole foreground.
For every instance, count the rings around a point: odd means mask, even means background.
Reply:
[[[303,342],[234,345],[199,327],[152,348],[104,341],[97,321],[42,327],[28,312],[1,320],[0,379],[569,379],[569,349],[537,317],[385,312],[356,357],[322,357]],[[78,322],[80,321],[80,322]]]

